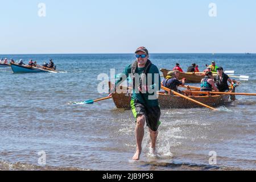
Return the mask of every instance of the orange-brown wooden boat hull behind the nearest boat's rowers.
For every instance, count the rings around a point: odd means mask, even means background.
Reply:
[[[168,69],[160,69],[161,72],[163,72],[163,76],[164,78],[167,77],[167,73],[170,72],[171,70],[168,70]],[[182,78],[186,78],[186,82],[188,83],[200,83],[202,78],[204,77],[203,74],[197,74],[195,72],[193,73],[183,73],[183,72],[180,72],[180,75],[179,75],[179,80],[182,80]]]

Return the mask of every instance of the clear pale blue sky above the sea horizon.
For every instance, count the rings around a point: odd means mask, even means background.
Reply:
[[[1,0],[0,7],[0,54],[132,53],[139,46],[154,53],[256,52],[255,0]]]

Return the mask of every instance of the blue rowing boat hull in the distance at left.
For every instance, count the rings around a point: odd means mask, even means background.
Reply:
[[[11,69],[14,73],[57,73],[54,69],[43,69],[38,67],[31,67],[28,65],[11,64]]]

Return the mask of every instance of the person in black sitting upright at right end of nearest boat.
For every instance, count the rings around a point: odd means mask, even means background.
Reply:
[[[222,67],[217,68],[217,71],[218,73],[217,73],[217,76],[214,78],[214,81],[215,81],[215,84],[217,85],[218,90],[220,90],[220,92],[229,91],[228,82],[233,86],[236,86],[236,84],[229,78],[229,76],[223,72]]]

